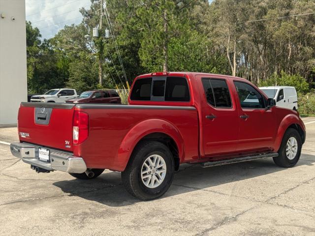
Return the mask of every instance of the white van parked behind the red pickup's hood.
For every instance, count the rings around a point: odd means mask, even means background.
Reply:
[[[269,98],[276,100],[276,106],[297,110],[297,94],[294,87],[269,86],[259,87]]]

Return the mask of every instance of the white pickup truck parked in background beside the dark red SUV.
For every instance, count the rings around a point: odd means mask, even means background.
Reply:
[[[77,96],[75,89],[51,89],[43,95],[32,96],[31,102],[65,102]]]

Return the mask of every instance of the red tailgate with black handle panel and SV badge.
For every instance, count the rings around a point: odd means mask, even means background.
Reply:
[[[20,141],[72,151],[74,107],[66,103],[22,102],[18,115]]]

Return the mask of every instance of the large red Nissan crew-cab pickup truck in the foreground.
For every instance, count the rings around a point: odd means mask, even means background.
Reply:
[[[249,99],[248,97],[251,97]],[[36,172],[89,179],[122,172],[129,193],[162,196],[181,163],[202,167],[272,157],[299,160],[305,126],[249,81],[189,72],[135,78],[129,105],[22,103],[14,156]]]

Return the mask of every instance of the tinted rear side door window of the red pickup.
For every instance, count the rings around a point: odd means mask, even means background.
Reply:
[[[202,79],[203,89],[207,102],[220,108],[231,108],[231,96],[225,80],[222,79]]]

